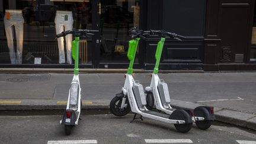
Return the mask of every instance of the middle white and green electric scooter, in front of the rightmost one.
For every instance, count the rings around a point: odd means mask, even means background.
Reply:
[[[129,50],[127,57],[130,60],[129,68],[125,75],[124,87],[121,89],[120,94],[116,96],[110,102],[110,111],[116,116],[125,116],[132,110],[135,113],[133,120],[147,117],[149,119],[162,121],[164,123],[174,124],[178,132],[187,133],[193,124],[190,113],[187,111],[178,109],[174,110],[172,114],[164,114],[156,111],[151,111],[146,108],[146,95],[143,90],[143,86],[139,81],[133,79],[133,62],[135,60],[137,46],[140,38],[144,39],[146,35],[152,34],[151,31],[138,30],[133,27],[129,30],[132,35],[132,40],[129,41]],[[140,117],[136,118],[139,114]],[[132,121],[133,121],[132,120]],[[130,122],[132,122],[130,121]]]

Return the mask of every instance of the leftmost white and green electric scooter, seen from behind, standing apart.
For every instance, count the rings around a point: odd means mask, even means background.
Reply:
[[[98,32],[98,30],[80,30],[73,29],[69,31],[63,31],[57,34],[56,38],[64,37],[68,34],[74,34],[75,40],[72,41],[72,57],[75,59],[75,68],[73,70],[73,79],[71,87],[69,88],[68,102],[66,111],[63,114],[60,124],[64,124],[66,135],[71,135],[71,129],[73,126],[78,125],[79,116],[81,114],[82,100],[81,100],[81,87],[79,82],[79,69],[78,69],[78,56],[79,56],[79,39],[81,36],[90,37],[94,34],[92,32]]]

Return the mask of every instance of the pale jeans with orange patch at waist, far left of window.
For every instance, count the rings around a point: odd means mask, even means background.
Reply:
[[[8,16],[7,16],[8,15]],[[7,45],[9,48],[9,56],[12,64],[22,63],[23,53],[23,33],[24,33],[24,18],[21,11],[6,11],[5,18],[5,33],[7,36]],[[14,49],[14,28],[17,40],[17,51]]]

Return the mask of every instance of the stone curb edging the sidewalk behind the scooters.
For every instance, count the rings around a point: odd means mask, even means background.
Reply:
[[[40,100],[37,100],[33,104],[33,100],[26,101],[26,104],[0,104],[1,111],[29,111],[29,110],[64,110],[66,104],[56,104],[53,100],[41,100],[43,103],[40,104]],[[48,102],[52,103],[48,103]],[[29,102],[29,103],[28,103]],[[55,103],[53,103],[55,102]],[[46,104],[48,103],[48,104]],[[108,101],[100,103],[96,101],[95,104],[83,104],[83,110],[108,110]],[[191,103],[188,101],[180,101],[171,99],[171,105],[174,108],[184,108],[188,110],[193,110],[196,107],[201,106],[201,104]],[[217,121],[222,121],[224,123],[233,124],[236,126],[245,127],[248,129],[256,130],[256,115],[241,113],[239,111],[227,110],[219,107],[214,107],[215,117]]]

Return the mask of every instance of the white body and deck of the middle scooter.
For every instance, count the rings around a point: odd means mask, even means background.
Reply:
[[[133,88],[137,87],[137,91],[133,91]],[[128,96],[128,100],[130,103],[130,107],[133,113],[140,114],[143,117],[148,117],[149,119],[154,119],[158,121],[162,121],[165,123],[172,124],[183,124],[184,120],[172,120],[169,119],[169,114],[162,114],[156,111],[148,110],[146,105],[146,96],[141,84],[138,81],[133,79],[131,74],[126,73],[126,81],[124,83],[124,87],[122,88],[123,94]],[[136,93],[136,94],[135,94]],[[126,97],[123,98],[122,102],[126,101]],[[124,103],[121,104],[121,107],[125,107]]]

